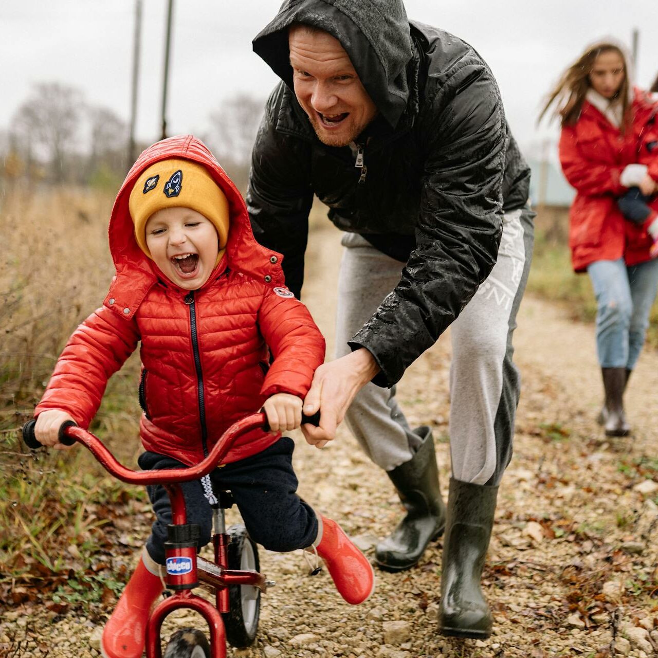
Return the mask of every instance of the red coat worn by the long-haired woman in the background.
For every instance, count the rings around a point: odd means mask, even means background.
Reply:
[[[578,192],[569,215],[569,246],[576,272],[584,272],[594,261],[623,257],[627,265],[636,265],[649,260],[651,238],[644,226],[624,219],[617,198],[626,192],[619,182],[621,172],[627,164],[640,161],[647,131],[654,130],[654,111],[649,96],[636,89],[632,126],[625,136],[588,101],[578,122],[562,129],[560,162]],[[650,172],[653,175],[655,170]]]

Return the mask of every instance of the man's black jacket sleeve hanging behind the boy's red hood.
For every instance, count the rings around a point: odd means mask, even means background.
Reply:
[[[274,130],[268,102],[251,153],[247,209],[259,243],[284,255],[286,285],[299,299],[313,190],[304,145]]]

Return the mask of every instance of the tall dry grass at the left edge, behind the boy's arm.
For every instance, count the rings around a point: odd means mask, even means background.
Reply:
[[[57,572],[80,536],[84,505],[115,497],[116,483],[82,450],[30,456],[18,428],[31,417],[76,326],[98,307],[114,274],[107,246],[113,199],[98,192],[13,190],[0,207],[0,569]],[[92,430],[130,460],[139,447],[138,359],[114,376]],[[130,441],[124,439],[130,436]],[[4,531],[7,532],[4,532]],[[89,548],[91,550],[91,547]]]

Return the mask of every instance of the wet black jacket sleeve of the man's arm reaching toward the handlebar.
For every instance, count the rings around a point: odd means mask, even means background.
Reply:
[[[350,342],[393,386],[457,318],[495,265],[501,238],[506,124],[492,73],[466,63],[418,126],[426,143],[417,247],[402,278]]]

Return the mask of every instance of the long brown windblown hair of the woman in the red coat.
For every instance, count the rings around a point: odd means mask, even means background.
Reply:
[[[624,80],[613,97],[612,101],[622,105],[622,132],[628,125],[628,109],[630,107],[630,81],[628,80],[628,59],[619,45],[609,41],[601,41],[590,45],[578,59],[567,68],[562,74],[559,82],[549,93],[548,101],[544,105],[542,113],[539,115],[538,122],[542,120],[549,107],[556,103],[555,113],[553,116],[560,116],[560,124],[564,126],[573,126],[582,110],[582,103],[585,95],[590,89],[590,73],[594,68],[596,58],[603,53],[614,52],[621,57],[624,63]]]

